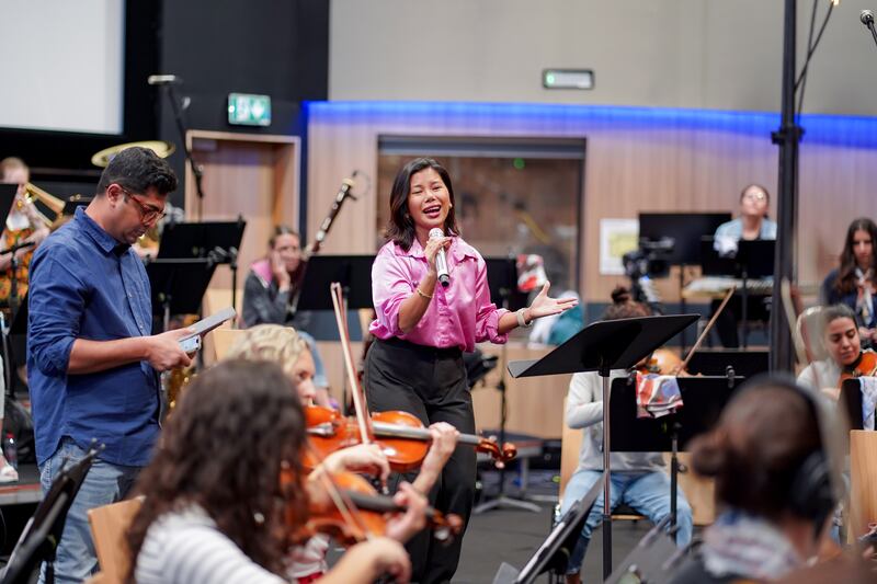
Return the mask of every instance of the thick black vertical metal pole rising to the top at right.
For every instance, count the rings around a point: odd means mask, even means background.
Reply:
[[[774,306],[771,310],[771,370],[793,368],[791,329],[785,311],[776,306],[783,279],[795,282],[795,237],[798,213],[798,144],[802,130],[795,121],[796,0],[786,0],[783,34],[782,123],[772,136],[779,147],[777,233],[774,256]]]

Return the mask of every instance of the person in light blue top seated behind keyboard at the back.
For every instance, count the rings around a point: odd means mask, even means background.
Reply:
[[[740,193],[740,217],[721,224],[716,229],[716,249],[719,252],[736,252],[737,242],[740,240],[776,239],[776,222],[767,218],[767,207],[771,195],[767,190],[759,184],[750,184]],[[718,310],[720,300],[713,300],[710,313]],[[731,298],[719,318],[716,320],[716,332],[722,346],[738,347],[740,339],[737,334],[737,323],[742,313],[741,299]],[[767,320],[764,299],[750,297],[747,302],[747,313],[750,320]]]

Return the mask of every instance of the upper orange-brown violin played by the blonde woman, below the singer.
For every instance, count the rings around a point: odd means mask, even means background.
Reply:
[[[305,408],[305,416],[310,443],[321,456],[360,444],[356,422],[343,417],[338,411],[309,405]],[[390,468],[398,472],[419,467],[429,451],[432,434],[413,414],[402,411],[373,413],[371,426]],[[494,439],[474,434],[460,434],[457,444],[489,454],[498,466],[505,465],[517,455],[513,444],[500,445]],[[314,468],[312,462],[311,457],[305,457],[306,468]]]

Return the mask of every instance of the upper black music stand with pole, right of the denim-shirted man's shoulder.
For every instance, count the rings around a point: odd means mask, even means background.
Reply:
[[[231,270],[231,306],[238,307],[238,250],[247,221],[170,222],[161,232],[157,260],[208,259]],[[205,288],[206,289],[206,288]]]

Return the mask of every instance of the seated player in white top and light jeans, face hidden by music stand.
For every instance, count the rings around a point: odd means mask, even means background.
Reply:
[[[624,289],[613,293],[614,304],[606,310],[604,320],[647,317],[649,309],[629,299]],[[628,371],[615,369],[611,379],[627,377]],[[572,376],[567,396],[566,423],[571,428],[582,428],[583,439],[579,454],[579,467],[567,483],[561,512],[591,489],[603,472],[603,390],[596,371]],[[653,523],[670,515],[670,477],[664,469],[660,453],[614,453],[612,455],[611,507],[624,503],[646,515]],[[676,500],[676,543],[686,546],[692,538],[692,509],[682,490]],[[581,582],[584,553],[591,533],[603,520],[603,493],[600,494],[582,529],[579,542],[567,566],[567,582]]]

